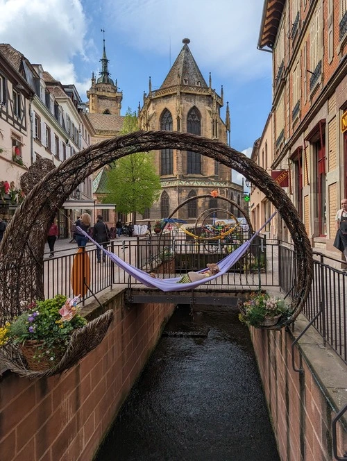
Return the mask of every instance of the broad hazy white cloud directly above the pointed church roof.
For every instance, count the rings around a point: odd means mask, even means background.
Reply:
[[[117,9],[108,0],[107,9],[124,40],[140,51],[168,56],[171,42],[176,57],[188,37],[201,67],[250,80],[269,73],[271,56],[257,50],[260,0],[132,0]]]

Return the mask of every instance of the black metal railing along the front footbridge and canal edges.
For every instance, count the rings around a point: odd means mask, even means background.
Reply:
[[[248,238],[239,235],[237,240],[187,240],[182,235],[162,235],[137,237],[136,240],[115,240],[109,250],[117,254],[130,265],[139,267],[147,273],[154,272],[160,278],[173,278],[187,271],[198,271],[210,262],[218,262],[230,251]],[[103,292],[114,285],[141,286],[133,277],[106,258],[100,264],[96,259],[95,246],[85,249],[90,258],[90,289],[94,294]],[[56,258],[44,260],[44,295],[51,298],[56,294],[71,296],[71,269],[74,252],[62,251]],[[314,252],[314,280],[312,290],[305,303],[303,314],[309,321],[314,319],[323,305],[322,315],[313,323],[323,341],[329,344],[337,354],[347,361],[347,312],[346,312],[346,275],[340,261]],[[214,288],[235,290],[240,287],[260,289],[280,287],[289,297],[295,296],[297,278],[297,260],[294,246],[278,240],[257,237],[251,249],[226,274],[204,284],[206,291]],[[93,296],[87,292],[86,299]]]

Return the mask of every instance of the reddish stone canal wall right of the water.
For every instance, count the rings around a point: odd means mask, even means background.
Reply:
[[[332,455],[332,419],[347,402],[347,366],[303,315],[294,330],[251,328],[251,337],[282,461],[328,461]],[[256,418],[257,415],[255,414]],[[345,413],[346,417],[346,413]],[[347,450],[346,419],[337,424],[338,455]]]

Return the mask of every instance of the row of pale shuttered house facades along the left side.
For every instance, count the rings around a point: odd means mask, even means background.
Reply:
[[[20,176],[35,160],[49,158],[58,166],[90,145],[93,131],[74,85],[62,85],[10,44],[0,44],[0,62],[0,133],[5,146],[0,153],[0,171],[6,171],[8,179],[4,179],[13,181],[14,189],[19,190]],[[77,215],[92,212],[92,178],[87,178],[68,202],[56,215],[60,237],[69,236]],[[14,212],[17,203],[11,203],[9,211]],[[10,216],[8,213],[6,219]]]

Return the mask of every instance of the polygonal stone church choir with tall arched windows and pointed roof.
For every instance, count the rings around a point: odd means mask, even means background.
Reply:
[[[189,42],[187,38],[183,40],[183,48],[158,90],[152,90],[149,78],[149,94],[144,93],[143,106],[139,106],[140,129],[194,133],[227,144],[230,112],[227,106],[226,121],[223,121],[220,116],[223,87],[220,95],[212,89],[211,74],[206,83],[188,47]],[[155,164],[162,194],[144,218],[167,217],[186,199],[210,194],[212,190],[241,203],[242,186],[232,183],[231,169],[216,160],[194,152],[163,149],[155,152]],[[223,203],[222,208],[226,209],[226,202]],[[198,199],[180,208],[176,217],[193,222],[204,210],[216,207],[217,199],[213,197],[210,203]]]

